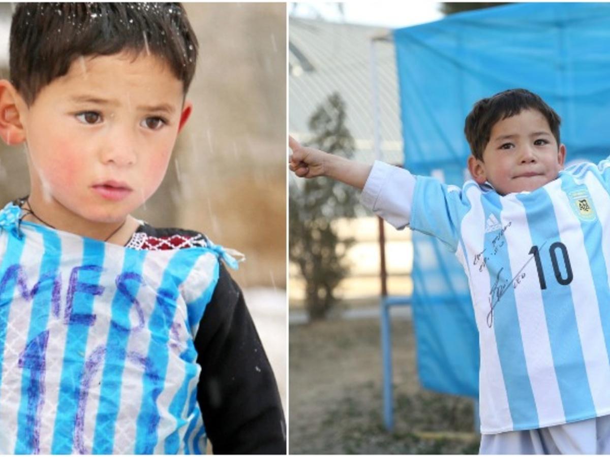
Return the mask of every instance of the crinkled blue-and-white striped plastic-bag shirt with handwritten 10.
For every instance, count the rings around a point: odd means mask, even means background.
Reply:
[[[0,212],[0,453],[205,453],[193,339],[220,247],[134,250]]]

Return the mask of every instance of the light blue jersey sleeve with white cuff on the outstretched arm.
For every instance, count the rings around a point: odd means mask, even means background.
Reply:
[[[460,221],[469,202],[457,186],[411,174],[404,168],[376,161],[361,202],[401,230],[411,227],[458,249]]]

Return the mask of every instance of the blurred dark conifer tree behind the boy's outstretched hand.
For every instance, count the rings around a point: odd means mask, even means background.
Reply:
[[[314,138],[309,145],[350,158],[354,139],[345,127],[345,103],[330,95],[309,119]],[[337,303],[334,289],[349,273],[346,250],[353,239],[339,239],[332,220],[353,217],[356,190],[326,177],[292,179],[289,191],[289,258],[306,282],[306,308],[311,320],[323,319]]]

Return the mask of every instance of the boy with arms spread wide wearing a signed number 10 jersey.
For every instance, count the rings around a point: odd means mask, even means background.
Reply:
[[[481,453],[610,452],[610,161],[563,170],[559,123],[526,90],[477,102],[461,189],[290,140],[296,175],[364,188],[376,214],[461,261],[481,345]]]

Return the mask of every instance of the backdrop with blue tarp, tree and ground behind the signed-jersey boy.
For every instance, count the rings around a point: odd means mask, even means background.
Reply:
[[[303,144],[461,186],[465,116],[523,87],[561,116],[568,165],[610,151],[609,4],[288,8],[289,133]],[[478,330],[462,267],[358,196],[289,177],[290,453],[477,453]]]

